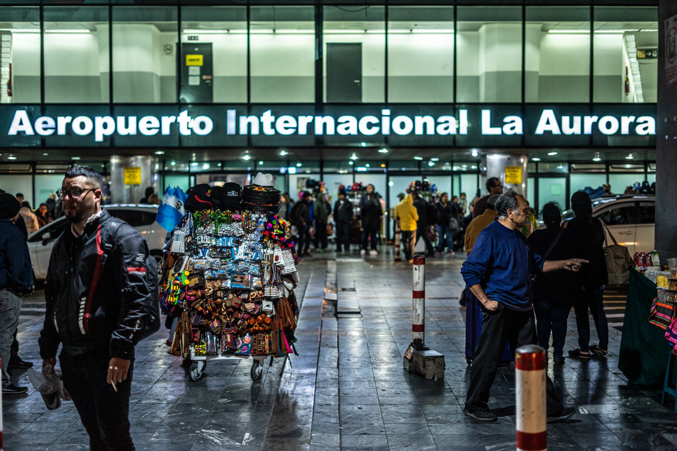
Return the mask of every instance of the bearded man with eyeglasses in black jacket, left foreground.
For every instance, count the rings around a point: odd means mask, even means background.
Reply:
[[[134,346],[150,321],[144,237],[101,208],[104,179],[87,166],[66,172],[58,196],[70,227],[54,243],[40,333],[43,373],[59,356],[64,387],[92,451],[134,451],[129,394]]]

